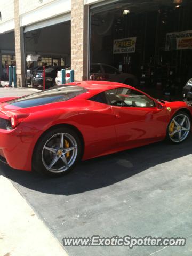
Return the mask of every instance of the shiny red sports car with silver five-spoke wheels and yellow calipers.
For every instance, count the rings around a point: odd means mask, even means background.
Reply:
[[[83,81],[0,99],[0,156],[15,169],[67,173],[80,159],[184,141],[192,108],[131,86]]]

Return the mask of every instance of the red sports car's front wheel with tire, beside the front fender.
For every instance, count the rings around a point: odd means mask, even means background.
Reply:
[[[181,143],[187,139],[190,130],[190,116],[183,111],[179,111],[172,117],[167,127],[167,139],[173,143]]]

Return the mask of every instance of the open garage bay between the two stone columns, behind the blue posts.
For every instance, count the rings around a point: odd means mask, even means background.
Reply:
[[[60,22],[63,19],[67,19],[67,21]],[[29,55],[37,57],[36,60],[27,62],[26,79],[28,85],[38,85],[35,79],[33,83],[33,77],[41,77],[43,65],[46,68],[53,67],[55,70],[51,84],[52,86],[55,85],[57,70],[70,66],[70,43],[70,15],[27,26],[25,28],[26,57]],[[37,68],[39,72],[37,72]]]

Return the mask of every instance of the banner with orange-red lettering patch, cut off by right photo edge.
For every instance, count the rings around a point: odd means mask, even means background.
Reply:
[[[165,51],[192,49],[192,30],[167,33]]]

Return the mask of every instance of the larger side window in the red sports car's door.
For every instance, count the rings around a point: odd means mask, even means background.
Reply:
[[[119,107],[155,107],[155,102],[136,90],[116,88],[105,92],[107,103]]]

